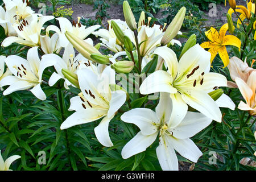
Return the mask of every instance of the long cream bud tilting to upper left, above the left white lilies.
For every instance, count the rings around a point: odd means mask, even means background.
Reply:
[[[86,59],[92,60],[92,58],[90,57],[92,53],[98,53],[101,55],[101,53],[98,51],[97,48],[93,47],[89,43],[80,39],[76,35],[73,35],[71,32],[66,31],[65,36],[67,37],[69,42],[73,45],[73,47],[75,47],[77,51],[80,52],[81,55],[84,56]]]

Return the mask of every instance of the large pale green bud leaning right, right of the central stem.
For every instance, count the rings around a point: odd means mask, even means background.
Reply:
[[[176,14],[176,16],[174,17],[172,22],[167,27],[166,32],[164,32],[163,38],[161,40],[161,45],[162,46],[165,46],[172,39],[175,38],[175,36],[179,32],[179,30],[180,30],[180,28],[181,28],[181,26],[183,24],[183,20],[184,20],[185,14],[186,14],[186,8],[185,7],[181,7],[179,12]]]

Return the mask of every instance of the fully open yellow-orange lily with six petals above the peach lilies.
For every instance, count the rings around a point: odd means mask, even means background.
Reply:
[[[226,51],[226,46],[236,46],[239,50],[241,48],[241,40],[234,35],[226,35],[227,30],[228,23],[221,27],[220,33],[215,28],[210,28],[210,30],[205,32],[210,42],[204,42],[200,45],[203,48],[209,48],[208,52],[212,55],[210,57],[210,63],[212,63],[218,53],[224,63],[224,68],[229,64],[229,55]]]

